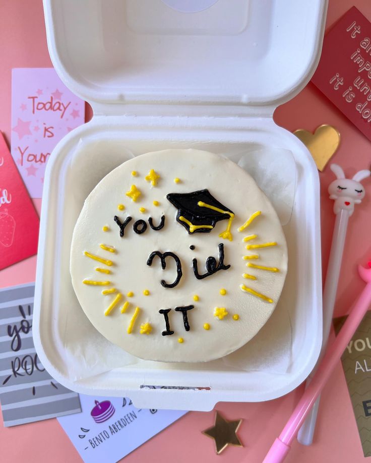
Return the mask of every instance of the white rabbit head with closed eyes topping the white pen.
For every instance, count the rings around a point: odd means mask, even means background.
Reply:
[[[330,169],[337,177],[329,186],[332,199],[335,199],[335,197],[347,197],[353,200],[364,198],[364,188],[359,182],[369,177],[371,175],[370,171],[359,171],[352,179],[346,179],[343,169],[337,164],[331,164]]]

